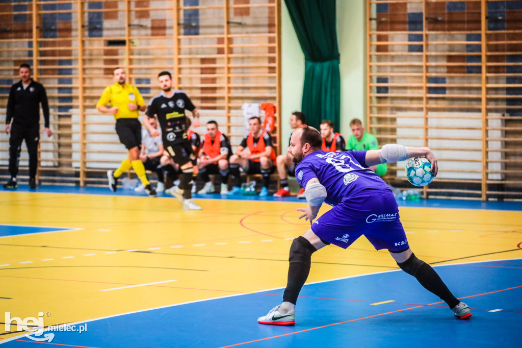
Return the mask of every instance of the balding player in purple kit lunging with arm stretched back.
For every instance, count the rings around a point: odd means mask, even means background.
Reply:
[[[399,267],[416,277],[428,291],[443,299],[456,317],[469,318],[471,311],[447,288],[433,268],[411,251],[392,191],[368,166],[396,163],[426,156],[437,174],[437,160],[428,147],[384,145],[381,150],[327,153],[321,150],[321,134],[312,127],[293,132],[288,153],[297,164],[296,178],[305,187],[309,207],[298,208],[299,218],[311,228],[295,238],[290,247],[288,283],[283,303],[270,310],[259,323],[293,325],[295,303],[310,272],[312,254],[332,243],[347,248],[364,235],[375,249],[388,249]],[[334,207],[314,219],[323,202]]]

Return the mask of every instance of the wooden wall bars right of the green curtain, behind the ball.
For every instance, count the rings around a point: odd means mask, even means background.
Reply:
[[[366,129],[434,150],[425,196],[522,200],[522,3],[367,4]],[[404,165],[387,180],[407,189]]]

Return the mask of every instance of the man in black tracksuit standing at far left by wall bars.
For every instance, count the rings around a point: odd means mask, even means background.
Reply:
[[[45,120],[45,134],[51,136],[49,129],[49,103],[45,88],[31,78],[29,64],[20,65],[20,81],[9,91],[5,132],[9,137],[9,173],[11,178],[4,184],[5,189],[16,189],[16,175],[22,141],[26,141],[29,152],[29,188],[36,188],[36,171],[38,167],[38,141],[40,140],[40,103],[42,103]],[[11,119],[13,124],[11,125]]]

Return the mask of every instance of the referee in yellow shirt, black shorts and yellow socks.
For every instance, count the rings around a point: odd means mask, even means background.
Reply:
[[[116,133],[120,137],[120,142],[128,150],[128,158],[115,171],[107,171],[109,178],[109,188],[112,192],[116,191],[118,177],[131,167],[136,172],[145,187],[149,196],[155,196],[156,191],[150,185],[145,174],[145,167],[139,159],[141,147],[141,123],[138,121],[139,111],[145,111],[147,105],[138,89],[125,83],[125,71],[121,67],[114,69],[112,79],[115,84],[105,88],[98,100],[96,107],[98,111],[110,113],[116,119]],[[107,107],[110,105],[110,108]]]

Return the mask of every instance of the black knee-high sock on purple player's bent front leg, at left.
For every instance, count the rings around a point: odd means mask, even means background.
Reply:
[[[312,253],[315,247],[304,237],[295,238],[290,247],[287,287],[284,289],[283,302],[295,305],[301,288],[310,273]]]

